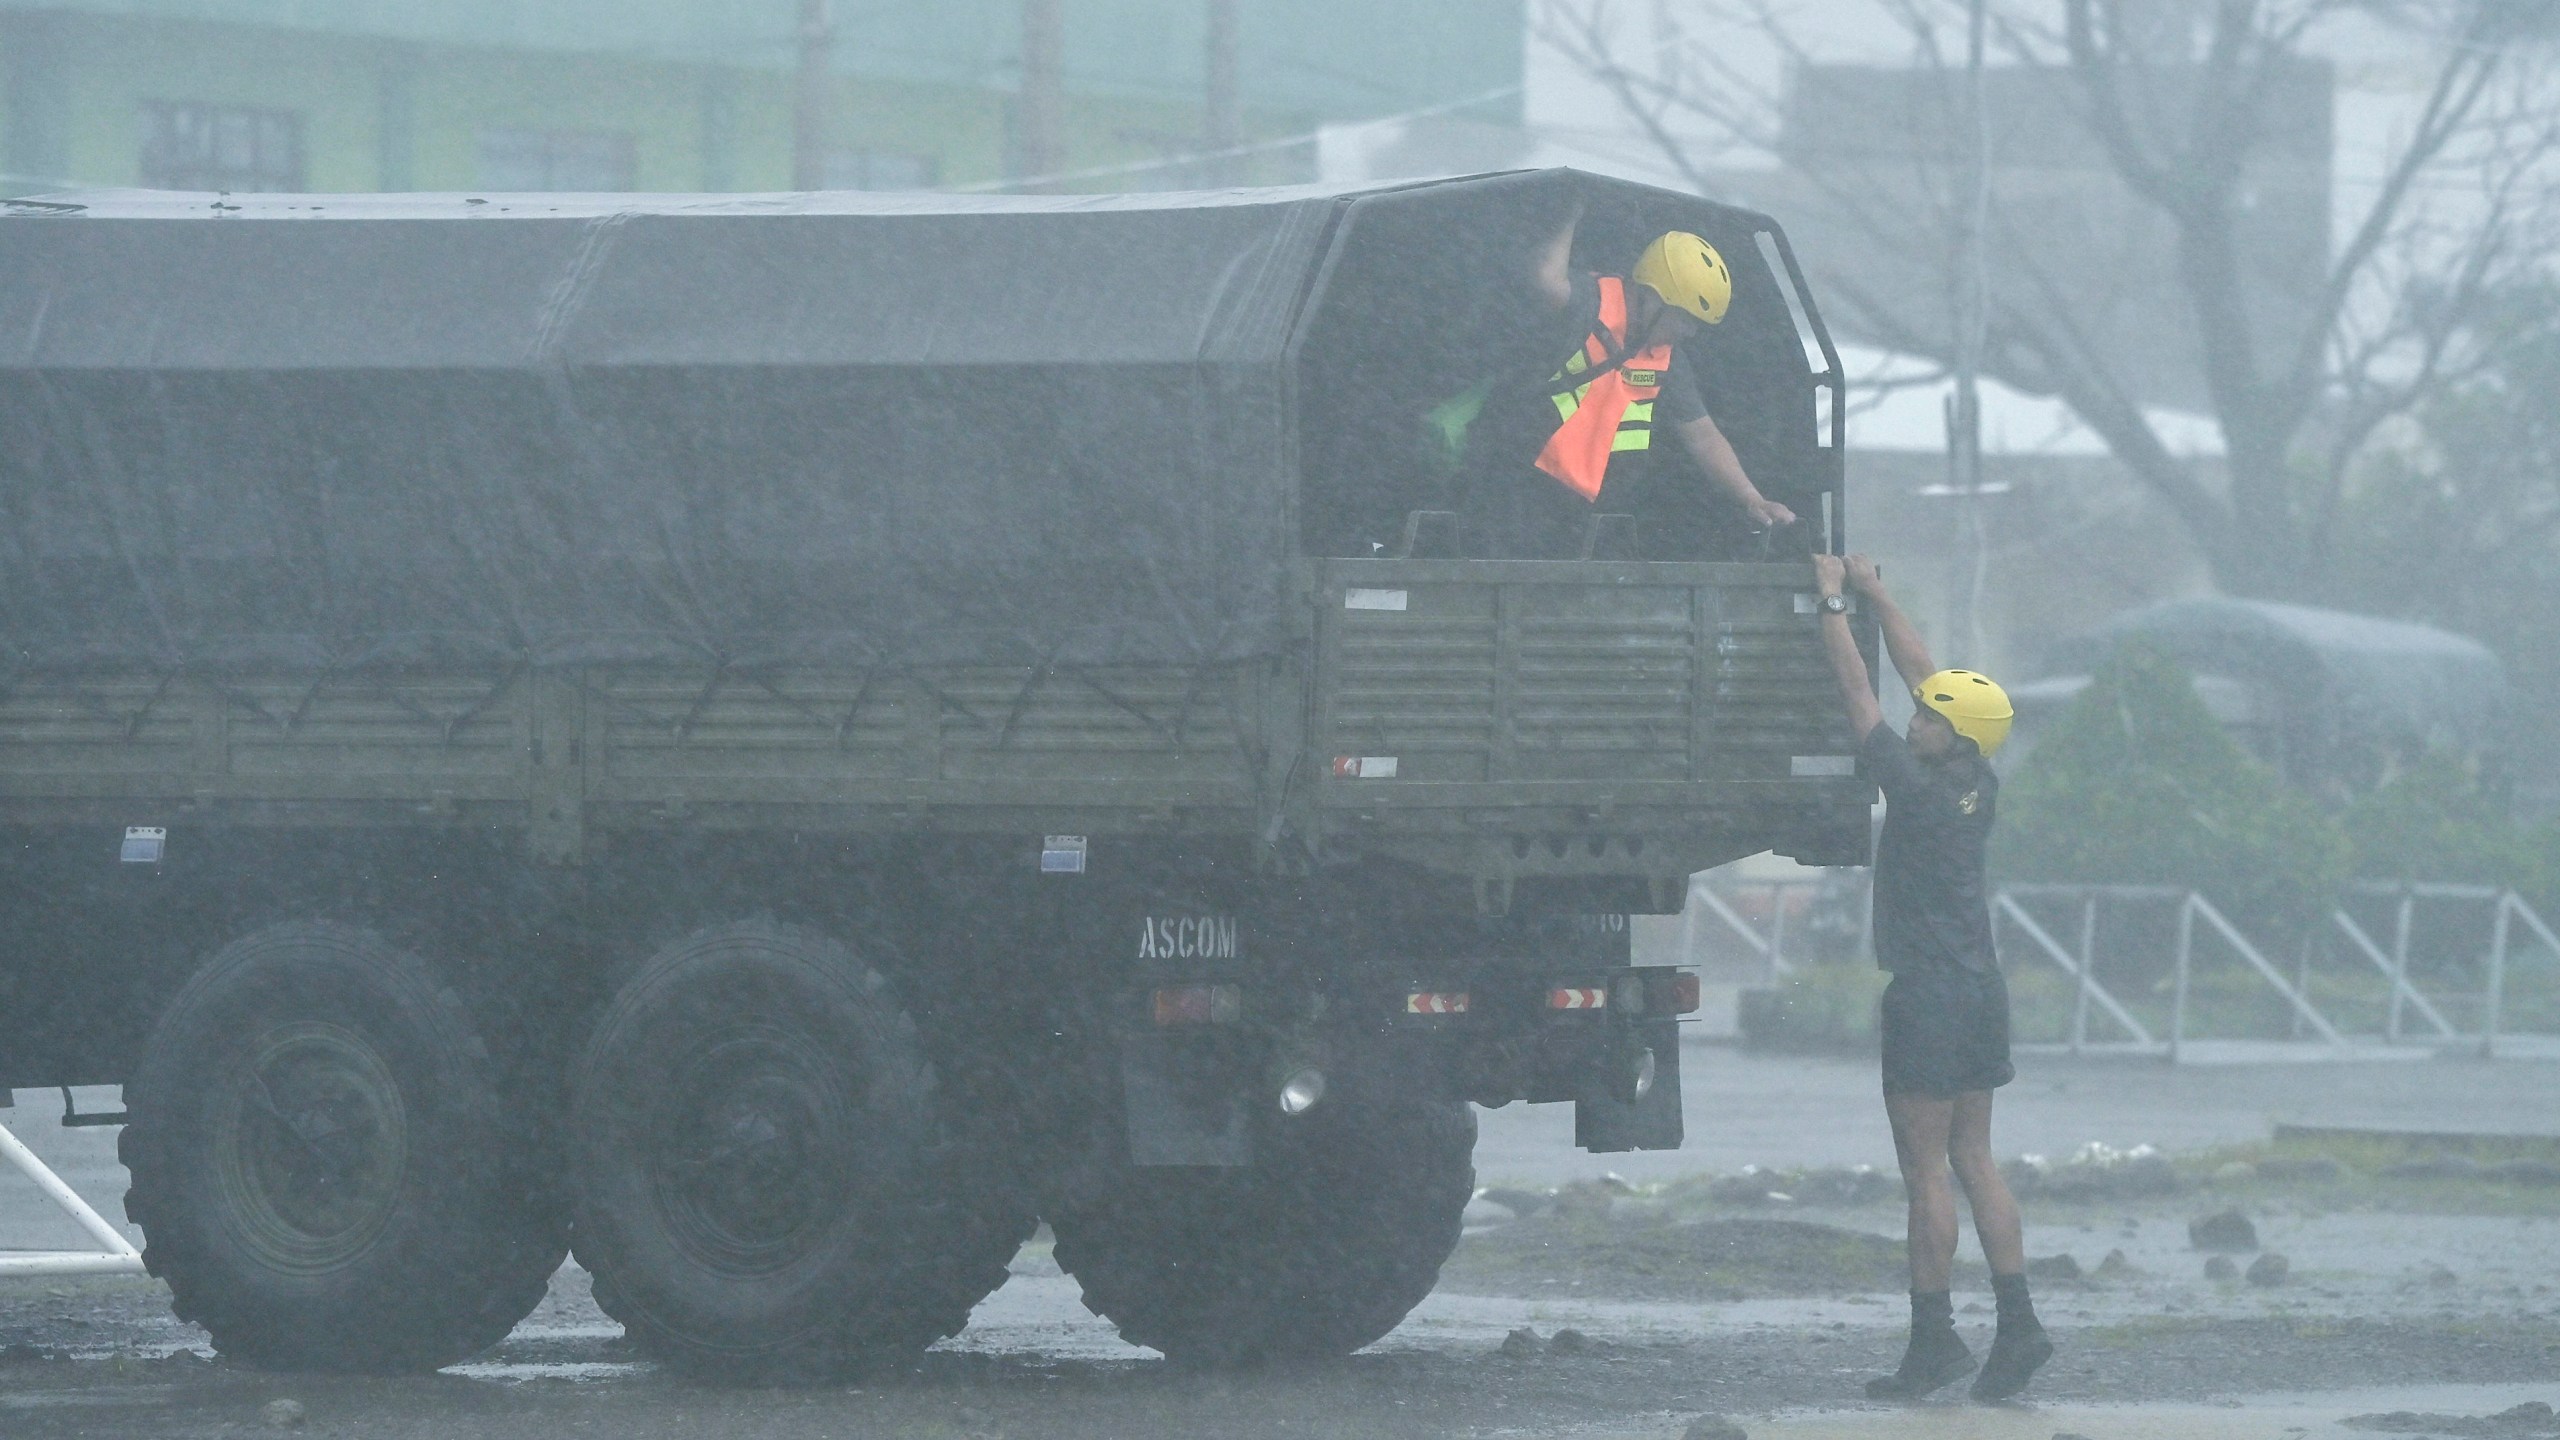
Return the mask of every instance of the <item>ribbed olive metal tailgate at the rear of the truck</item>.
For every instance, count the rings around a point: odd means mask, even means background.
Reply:
[[[1311,769],[1336,833],[1864,848],[1871,789],[1805,564],[1324,561],[1313,592]],[[1587,861],[1564,869],[1669,856]]]

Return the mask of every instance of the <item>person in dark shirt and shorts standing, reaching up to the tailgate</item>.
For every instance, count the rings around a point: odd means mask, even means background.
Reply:
[[[1869,1381],[1866,1394],[1920,1399],[1974,1368],[1948,1297],[1953,1168],[1999,1302],[1974,1399],[2007,1399],[2053,1358],[2053,1340],[2028,1299],[2017,1199],[1992,1161],[1992,1092],[2017,1074],[2010,1068],[2010,986],[1992,953],[1984,892],[1984,851],[1999,802],[1989,756],[2010,738],[2010,697],[1974,671],[1938,669],[1866,556],[1812,556],[1812,569],[1823,651],[1859,733],[1859,764],[1884,792],[1874,925],[1876,963],[1894,976],[1884,986],[1884,1115],[1910,1197],[1912,1332],[1902,1366]],[[1848,633],[1843,587],[1874,607],[1884,651],[1912,687],[1907,738],[1894,735],[1876,707],[1866,659]]]

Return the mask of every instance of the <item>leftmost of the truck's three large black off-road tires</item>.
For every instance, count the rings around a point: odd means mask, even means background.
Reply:
[[[143,1263],[225,1355],[451,1366],[532,1312],[566,1253],[461,997],[371,930],[276,925],[215,953],[125,1102]]]

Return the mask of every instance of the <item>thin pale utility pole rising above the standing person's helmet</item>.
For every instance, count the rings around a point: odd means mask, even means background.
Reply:
[[[1948,487],[1956,492],[1953,574],[1948,577],[1946,641],[1966,664],[1992,664],[1981,633],[1981,582],[1989,546],[1981,533],[1981,348],[1989,328],[1992,120],[1981,95],[1984,0],[1966,5],[1964,36],[1964,195],[1956,200],[1956,395],[1946,410]]]

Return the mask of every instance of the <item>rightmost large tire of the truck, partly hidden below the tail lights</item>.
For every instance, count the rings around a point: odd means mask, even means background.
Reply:
[[[1085,1309],[1178,1363],[1349,1355],[1405,1317],[1457,1248],[1475,1112],[1341,1102],[1239,1171],[1129,1168],[1050,1215]]]

